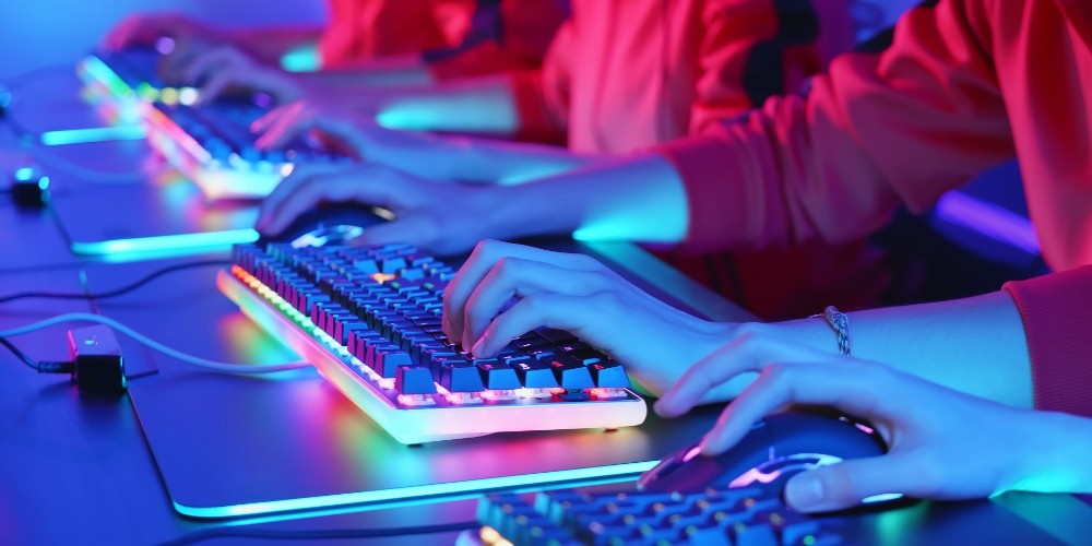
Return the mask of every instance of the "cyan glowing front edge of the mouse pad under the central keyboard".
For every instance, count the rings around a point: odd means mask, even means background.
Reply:
[[[175,510],[190,518],[238,518],[289,510],[313,510],[344,505],[360,505],[368,502],[385,502],[427,497],[451,496],[467,492],[480,492],[491,489],[510,489],[536,484],[557,482],[585,482],[607,477],[620,477],[640,474],[656,465],[658,461],[615,464],[594,468],[573,468],[558,472],[539,472],[519,476],[500,476],[495,478],[471,479],[449,484],[428,484],[413,487],[400,487],[381,491],[344,492],[323,495],[305,499],[285,499],[233,505],[227,507],[188,507],[171,500]]]

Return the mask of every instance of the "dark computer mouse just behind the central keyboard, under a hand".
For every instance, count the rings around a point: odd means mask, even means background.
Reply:
[[[351,204],[324,205],[300,215],[280,234],[263,235],[258,244],[287,242],[294,248],[344,245],[368,227],[387,219],[389,214],[381,209]]]

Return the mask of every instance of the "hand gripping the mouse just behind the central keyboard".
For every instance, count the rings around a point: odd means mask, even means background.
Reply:
[[[394,213],[354,245],[408,242],[441,256],[465,252],[490,229],[488,188],[423,180],[380,165],[300,165],[262,203],[256,228],[280,234],[323,202],[354,202]]]

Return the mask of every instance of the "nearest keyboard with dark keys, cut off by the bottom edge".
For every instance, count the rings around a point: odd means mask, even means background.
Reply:
[[[617,487],[614,489],[618,489]],[[574,489],[535,496],[496,494],[478,502],[477,543],[485,545],[845,544],[844,518],[795,512],[772,487],[697,494]]]

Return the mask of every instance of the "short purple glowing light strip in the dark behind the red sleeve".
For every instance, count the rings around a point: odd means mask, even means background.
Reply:
[[[1040,253],[1038,236],[1030,219],[961,191],[941,195],[936,214],[1030,254]]]

